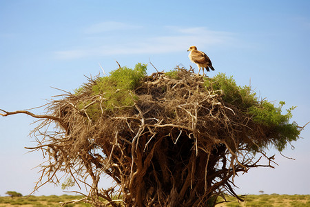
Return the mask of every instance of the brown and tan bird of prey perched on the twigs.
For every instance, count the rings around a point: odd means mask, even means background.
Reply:
[[[191,52],[189,52],[191,51]],[[205,52],[201,52],[198,51],[196,46],[192,46],[189,47],[189,49],[187,50],[187,52],[189,52],[189,59],[193,62],[196,63],[199,70],[198,70],[198,74],[200,72],[200,68],[203,68],[203,75],[205,75],[205,69],[207,70],[207,72],[209,72],[209,68],[211,70],[214,70],[211,60],[209,59],[209,57],[207,55],[205,55]]]

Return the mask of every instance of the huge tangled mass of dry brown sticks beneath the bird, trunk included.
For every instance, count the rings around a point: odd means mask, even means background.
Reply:
[[[110,110],[107,97],[92,90],[98,78],[52,101],[52,115],[35,132],[43,139],[30,148],[49,156],[42,177],[58,182],[56,172],[67,173],[73,183],[89,187],[80,201],[94,206],[214,206],[225,193],[238,197],[233,189],[238,172],[271,167],[273,157],[259,146],[268,144],[273,132],[223,101],[223,90],[206,90],[205,82],[216,79],[184,68],[174,75],[144,77],[129,93],[131,105]],[[58,130],[43,129],[52,122]],[[267,164],[254,159],[258,152]],[[118,187],[99,188],[105,174]]]

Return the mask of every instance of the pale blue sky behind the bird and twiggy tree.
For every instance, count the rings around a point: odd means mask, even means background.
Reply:
[[[261,98],[293,110],[300,126],[310,121],[310,1],[0,1],[0,108],[25,110],[72,91],[87,77],[138,62],[158,70],[183,64],[197,46],[214,72],[251,83]],[[103,70],[101,70],[101,67]],[[147,72],[155,72],[148,66]],[[197,72],[197,70],[196,70]],[[54,88],[51,88],[54,87]],[[33,112],[43,114],[43,108]],[[32,117],[0,117],[0,195],[31,193],[43,160],[29,132]],[[275,169],[252,169],[236,178],[240,194],[310,194],[310,126],[294,150],[276,153]],[[34,168],[34,169],[33,169]],[[102,187],[110,185],[103,179]],[[72,188],[70,190],[78,190]],[[62,195],[43,186],[35,195]]]

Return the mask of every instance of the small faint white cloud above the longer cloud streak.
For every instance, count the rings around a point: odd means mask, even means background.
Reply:
[[[85,28],[84,32],[86,34],[99,34],[115,30],[134,30],[139,28],[142,27],[118,21],[105,21],[93,24],[92,26]]]

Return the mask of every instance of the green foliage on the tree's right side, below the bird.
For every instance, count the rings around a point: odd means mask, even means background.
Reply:
[[[287,109],[287,113],[282,115],[282,106],[285,101],[280,101],[280,106],[266,100],[258,101],[256,93],[249,86],[238,86],[233,77],[227,77],[224,73],[219,73],[212,79],[205,79],[205,88],[223,94],[223,101],[230,103],[240,110],[248,113],[253,121],[262,126],[266,126],[273,133],[271,138],[277,150],[282,151],[287,146],[288,141],[296,141],[300,131],[295,122],[289,123],[295,106]],[[260,148],[266,146],[260,146]],[[254,146],[253,150],[257,150]]]

